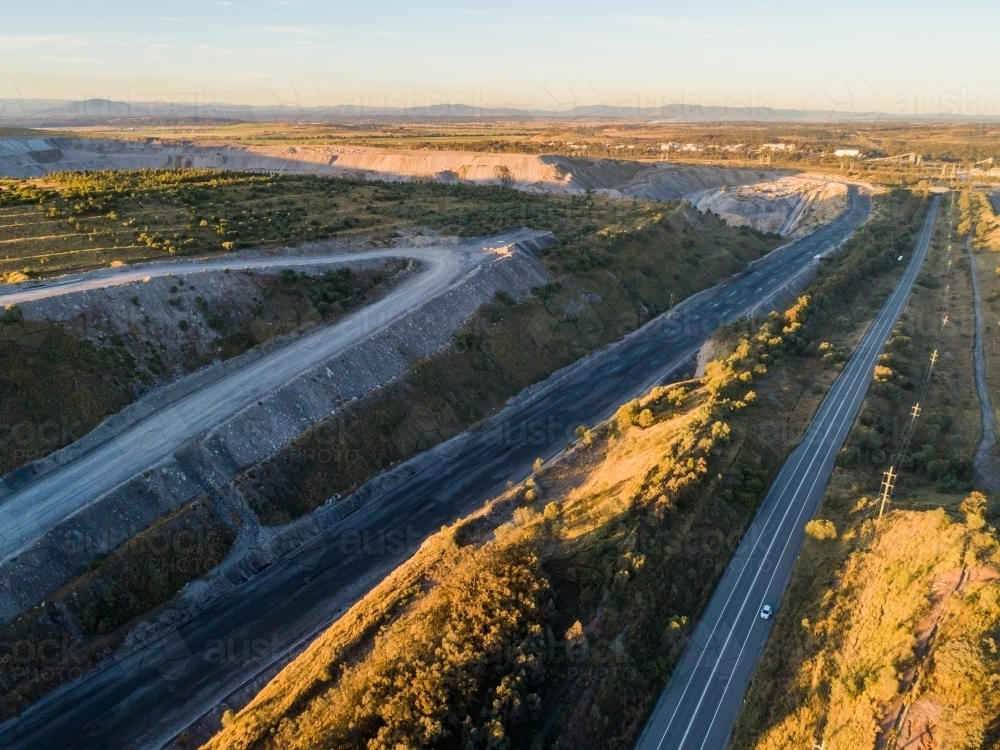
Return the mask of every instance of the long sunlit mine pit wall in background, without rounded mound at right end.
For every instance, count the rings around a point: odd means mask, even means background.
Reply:
[[[779,172],[712,166],[571,159],[473,151],[396,151],[356,146],[196,146],[162,141],[22,138],[0,141],[0,174],[38,177],[96,169],[242,169],[379,180],[507,185],[521,190],[676,200]]]

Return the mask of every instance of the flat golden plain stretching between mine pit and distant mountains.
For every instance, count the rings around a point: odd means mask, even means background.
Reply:
[[[655,107],[649,118],[655,119]],[[706,122],[558,122],[544,120],[475,120],[414,122],[377,116],[367,121],[341,123],[235,123],[232,125],[150,126],[138,128],[77,128],[88,136],[144,139],[182,139],[208,144],[240,143],[268,146],[287,144],[354,145],[396,149],[474,150],[493,153],[563,154],[588,157],[663,158],[661,144],[704,146],[701,151],[673,151],[669,158],[730,165],[756,164],[765,156],[774,164],[813,168],[825,165],[841,169],[845,160],[833,156],[836,149],[856,148],[870,157],[916,153],[925,161],[969,163],[1000,157],[1000,134],[978,124],[850,122],[828,124],[795,123],[706,123]],[[36,131],[38,132],[38,131]],[[768,143],[788,143],[787,151],[760,151]],[[854,168],[864,167],[854,164]],[[885,163],[871,165],[884,169]],[[906,165],[894,176],[918,179],[932,175],[930,169]]]

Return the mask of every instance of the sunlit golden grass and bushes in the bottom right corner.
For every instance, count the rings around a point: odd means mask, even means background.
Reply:
[[[838,555],[828,549],[838,547],[855,551],[830,576],[825,570]],[[775,636],[790,669],[766,702],[761,690],[776,676],[776,654],[758,673],[733,747],[825,742],[831,750],[862,750],[897,747],[896,739],[902,747],[914,741],[912,720],[921,712],[926,718],[928,704],[943,712],[929,712],[933,731],[917,746],[984,747],[1000,711],[993,688],[1000,661],[988,641],[1000,627],[998,563],[992,530],[955,522],[940,509],[894,511],[881,526],[864,524],[839,542],[808,540],[796,575],[828,588],[782,612]],[[922,706],[907,711],[911,722],[900,721],[904,706],[917,701]]]

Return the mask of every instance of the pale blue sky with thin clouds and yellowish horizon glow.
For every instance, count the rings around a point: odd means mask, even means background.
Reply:
[[[1000,115],[996,0],[0,0],[0,100]]]

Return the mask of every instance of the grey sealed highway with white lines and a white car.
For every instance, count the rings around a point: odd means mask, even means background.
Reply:
[[[923,265],[940,197],[932,199],[913,256],[895,290],[785,461],[695,626],[653,710],[638,750],[723,750],[774,623],[792,570],[854,424],[875,365]]]

